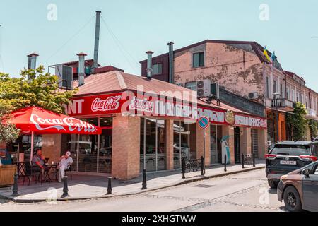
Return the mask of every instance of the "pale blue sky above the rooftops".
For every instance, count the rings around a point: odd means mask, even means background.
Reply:
[[[57,20],[47,20],[47,6],[57,6]],[[269,20],[259,6],[269,6]],[[140,74],[139,61],[206,39],[257,41],[275,50],[283,69],[303,76],[318,91],[318,1],[258,0],[0,0],[0,71],[18,76],[26,57],[37,52],[46,67],[93,58],[95,11],[101,23],[99,63]],[[79,32],[78,32],[79,31]]]

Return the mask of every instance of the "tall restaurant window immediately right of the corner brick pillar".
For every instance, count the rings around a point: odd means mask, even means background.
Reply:
[[[147,172],[165,170],[166,162],[165,120],[141,118],[140,170],[144,167]]]

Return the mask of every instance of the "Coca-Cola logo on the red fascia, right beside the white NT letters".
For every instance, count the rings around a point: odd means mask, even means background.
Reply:
[[[100,98],[95,98],[92,102],[91,109],[93,112],[107,112],[107,111],[114,111],[119,108],[119,100],[121,100],[122,96],[110,96],[107,97],[105,100],[100,100]]]

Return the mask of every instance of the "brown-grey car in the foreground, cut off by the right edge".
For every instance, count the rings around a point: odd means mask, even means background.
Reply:
[[[318,211],[318,161],[281,177],[277,196],[292,212]]]

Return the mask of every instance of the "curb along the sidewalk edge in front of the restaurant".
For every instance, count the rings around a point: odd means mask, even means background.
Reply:
[[[205,180],[205,179],[211,179],[211,178],[217,178],[217,177],[225,177],[225,176],[228,176],[228,175],[232,175],[232,174],[240,174],[242,172],[249,172],[249,171],[252,171],[252,170],[257,170],[257,169],[264,169],[265,166],[260,166],[260,167],[250,167],[250,168],[245,168],[245,169],[240,169],[240,170],[237,170],[237,171],[232,171],[232,172],[223,172],[223,173],[220,173],[220,174],[215,174],[215,175],[210,175],[210,176],[196,176],[196,178],[194,179],[184,179],[184,181],[182,182],[178,182],[178,183],[175,183],[175,184],[169,184],[167,186],[160,186],[160,187],[155,187],[153,189],[145,189],[145,190],[141,190],[141,191],[136,191],[136,192],[131,192],[131,193],[126,193],[126,194],[110,194],[110,195],[104,195],[104,196],[95,196],[95,197],[92,197],[92,196],[89,196],[89,197],[81,197],[81,198],[72,198],[71,196],[69,197],[66,197],[66,198],[57,198],[57,200],[54,200],[54,201],[76,201],[76,200],[89,200],[89,199],[98,199],[98,198],[112,198],[112,197],[122,197],[122,196],[134,196],[136,194],[142,194],[142,193],[145,193],[145,192],[148,192],[148,191],[156,191],[156,190],[159,190],[159,189],[167,189],[167,188],[170,188],[172,186],[179,186],[179,185],[183,185],[183,184],[189,184],[189,183],[192,183],[192,182],[198,182],[198,181],[201,181],[201,180]],[[13,201],[15,203],[41,203],[41,202],[46,202],[47,199],[44,199],[44,198],[38,198],[38,199],[16,199],[14,197],[11,197],[11,196],[4,196],[4,195],[1,195],[0,194],[0,198],[4,199],[4,200],[10,200],[10,201]]]

